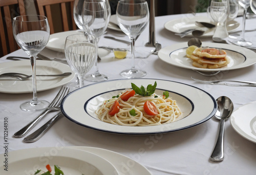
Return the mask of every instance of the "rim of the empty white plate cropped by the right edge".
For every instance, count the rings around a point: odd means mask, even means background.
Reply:
[[[256,104],[256,101],[252,101],[252,102],[249,102],[249,103],[246,103],[246,104],[243,104],[243,105],[239,106],[239,107],[238,107],[236,110],[234,110],[233,113],[231,114],[229,122],[230,122],[232,128],[233,128],[240,136],[242,136],[243,138],[245,138],[245,139],[247,139],[247,140],[249,140],[249,141],[251,141],[251,142],[253,142],[253,143],[256,143],[256,139],[254,139],[254,138],[252,138],[251,136],[249,136],[249,135],[248,135],[247,133],[245,133],[240,127],[236,126],[236,124],[233,122],[234,113],[236,113],[237,111],[241,110],[241,108],[243,108],[244,106],[249,105],[249,104],[254,104],[254,103]],[[256,111],[256,110],[254,109],[254,111]],[[243,133],[241,133],[239,129],[242,130]]]

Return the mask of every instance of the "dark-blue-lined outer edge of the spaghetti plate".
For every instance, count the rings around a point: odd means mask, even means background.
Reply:
[[[80,123],[76,120],[74,120],[72,117],[70,117],[66,112],[65,112],[65,109],[63,108],[63,104],[65,103],[66,99],[69,98],[69,96],[73,93],[76,93],[77,91],[81,90],[81,89],[84,89],[84,88],[87,88],[88,86],[92,86],[92,85],[98,85],[100,83],[104,83],[105,81],[103,82],[97,82],[97,83],[94,83],[94,84],[89,84],[87,86],[84,86],[83,88],[80,88],[78,90],[75,90],[73,92],[71,92],[70,94],[68,94],[62,101],[61,101],[61,104],[60,104],[60,110],[62,112],[62,114],[67,118],[69,119],[70,121],[80,125],[80,126],[83,126],[83,127],[87,127],[87,128],[90,128],[90,129],[94,129],[94,130],[98,130],[98,131],[101,131],[101,132],[105,132],[105,133],[111,133],[111,134],[121,134],[121,135],[153,135],[153,134],[164,134],[164,133],[170,133],[170,132],[176,132],[176,131],[179,131],[179,130],[183,130],[183,129],[187,129],[187,128],[190,128],[190,127],[194,127],[194,126],[197,126],[201,123],[204,123],[206,122],[207,120],[209,120],[212,116],[214,116],[214,114],[216,113],[217,111],[217,102],[216,100],[214,99],[214,97],[212,97],[208,92],[200,89],[200,88],[197,88],[196,86],[193,86],[193,85],[190,85],[190,84],[186,84],[186,83],[183,83],[183,82],[177,82],[177,81],[172,81],[172,80],[165,80],[165,79],[155,79],[155,78],[134,78],[134,79],[137,79],[137,80],[142,80],[142,79],[145,79],[145,80],[160,80],[160,81],[168,81],[168,82],[173,82],[173,83],[179,83],[179,84],[183,84],[183,85],[186,85],[186,86],[190,86],[192,88],[195,88],[197,90],[200,90],[202,91],[203,93],[205,93],[208,97],[210,97],[210,99],[212,100],[212,102],[214,103],[214,106],[212,108],[212,111],[211,113],[206,116],[204,119],[196,122],[196,123],[193,123],[193,124],[189,124],[187,126],[184,126],[184,127],[180,127],[180,128],[177,128],[177,129],[171,129],[171,130],[165,130],[165,131],[161,131],[159,130],[158,132],[138,132],[138,133],[132,133],[132,132],[121,132],[121,131],[112,131],[112,130],[106,130],[106,129],[102,129],[102,128],[96,128],[96,127],[93,127],[93,126],[90,126],[90,125],[85,125],[83,123]],[[132,79],[132,80],[134,80]],[[113,80],[108,80],[108,82],[110,81],[120,81],[120,80],[123,80],[123,81],[127,81],[126,79],[113,79]],[[87,99],[88,100],[88,99]],[[84,104],[83,104],[84,106]],[[88,114],[87,114],[88,115]],[[119,126],[119,125],[118,125]],[[157,125],[159,126],[159,125]],[[162,125],[160,125],[162,126]],[[145,126],[146,127],[146,126]]]

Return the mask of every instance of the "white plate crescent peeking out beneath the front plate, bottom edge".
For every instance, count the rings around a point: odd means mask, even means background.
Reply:
[[[117,169],[120,175],[152,175],[150,171],[135,160],[111,150],[87,146],[71,146],[70,148],[88,151],[108,160]],[[130,165],[131,162],[133,163],[133,166]],[[127,169],[126,166],[129,166],[129,169]]]

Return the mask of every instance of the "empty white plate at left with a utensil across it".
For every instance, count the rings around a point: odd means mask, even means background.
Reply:
[[[10,72],[31,75],[30,60],[9,61],[0,64],[0,74]],[[75,73],[70,69],[69,65],[67,64],[56,61],[36,60],[37,75],[62,74],[65,72],[71,72],[72,74],[64,78],[36,77],[37,91],[45,91],[66,84],[75,77]],[[2,93],[32,93],[32,89],[32,78],[23,81],[10,78],[0,79],[0,92]]]

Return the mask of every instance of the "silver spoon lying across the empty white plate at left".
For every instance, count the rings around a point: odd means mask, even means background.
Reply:
[[[66,73],[58,74],[58,75],[36,75],[36,76],[41,76],[41,77],[68,77],[71,74],[72,74],[71,72],[66,72]],[[26,75],[26,74],[21,74],[21,73],[5,73],[5,74],[0,75],[0,78],[16,78],[16,79],[19,79],[19,80],[27,80],[30,77],[32,77],[32,75]]]

